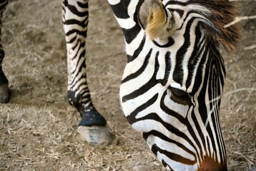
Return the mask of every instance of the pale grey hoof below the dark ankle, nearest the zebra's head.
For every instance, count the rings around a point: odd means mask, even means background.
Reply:
[[[107,125],[79,126],[77,130],[82,138],[91,145],[107,145],[112,142],[112,136]]]

